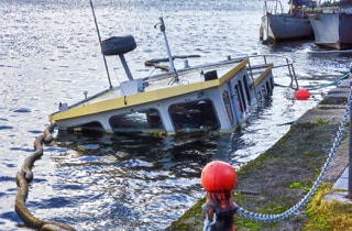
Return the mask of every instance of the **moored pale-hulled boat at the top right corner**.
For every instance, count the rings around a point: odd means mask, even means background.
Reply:
[[[307,9],[315,43],[323,48],[352,48],[352,0],[326,1]]]

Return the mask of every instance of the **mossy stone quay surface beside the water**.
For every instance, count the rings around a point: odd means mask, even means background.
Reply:
[[[328,153],[336,144],[338,128],[346,111],[351,81],[352,76],[341,80],[315,108],[295,121],[276,144],[239,169],[239,182],[233,196],[237,205],[251,212],[275,215],[282,212],[275,209],[282,208],[283,211],[287,211],[302,199],[307,188],[294,186],[311,187],[319,175],[319,169],[327,162]],[[323,200],[351,202],[346,198],[350,114],[346,116],[343,138],[322,178],[323,184],[334,185]],[[204,204],[205,200],[199,200],[166,230],[201,230]],[[272,231],[301,230],[308,220],[305,212],[300,211],[275,224],[255,223],[253,220],[235,216],[235,227],[237,230],[250,230],[249,226]]]

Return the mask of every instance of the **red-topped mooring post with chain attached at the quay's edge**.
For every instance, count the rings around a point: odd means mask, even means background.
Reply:
[[[205,222],[204,230],[234,231],[234,215],[238,210],[232,199],[233,189],[238,185],[235,169],[224,162],[210,162],[201,172],[201,185],[207,191],[202,213],[208,222]]]

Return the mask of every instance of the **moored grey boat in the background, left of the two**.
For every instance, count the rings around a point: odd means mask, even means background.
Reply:
[[[312,38],[314,31],[304,9],[310,0],[290,0],[287,12],[278,0],[264,1],[264,14],[261,24],[261,40],[284,41]]]

